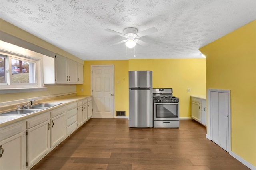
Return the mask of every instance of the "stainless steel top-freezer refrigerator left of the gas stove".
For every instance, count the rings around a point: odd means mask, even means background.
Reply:
[[[153,127],[152,71],[129,71],[129,127]]]

